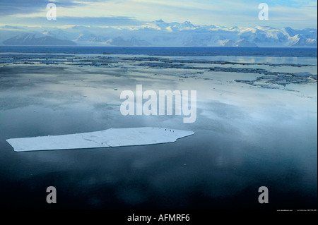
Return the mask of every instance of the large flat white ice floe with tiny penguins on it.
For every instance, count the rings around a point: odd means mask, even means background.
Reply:
[[[119,128],[71,135],[13,138],[6,141],[16,152],[29,152],[155,145],[175,142],[179,138],[193,134],[192,131],[169,128]]]

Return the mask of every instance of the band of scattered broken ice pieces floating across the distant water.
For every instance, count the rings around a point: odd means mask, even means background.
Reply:
[[[281,61],[283,62],[283,61]],[[300,61],[301,62],[301,61]],[[82,54],[0,54],[0,66],[11,64],[35,64],[40,65],[68,65],[78,67],[97,68],[153,68],[179,69],[180,78],[199,78],[204,80],[213,79],[213,73],[250,73],[257,74],[255,80],[235,79],[237,83],[245,83],[255,87],[281,89],[290,84],[317,83],[317,74],[297,70],[286,71],[281,67],[302,68],[312,71],[313,63],[269,63],[247,61],[219,61],[206,59],[177,59],[172,57],[158,56],[92,56]],[[218,66],[219,65],[219,66]],[[28,65],[30,66],[30,65]],[[277,71],[273,71],[273,69]],[[187,72],[193,71],[195,75]],[[291,72],[293,71],[293,72]],[[201,78],[202,74],[210,74],[211,78]],[[287,89],[284,89],[287,90]]]

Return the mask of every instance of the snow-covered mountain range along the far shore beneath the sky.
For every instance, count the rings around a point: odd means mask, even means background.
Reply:
[[[41,36],[42,35],[42,36]],[[226,28],[155,20],[133,27],[0,27],[0,44],[167,46],[167,47],[317,47],[317,29]]]

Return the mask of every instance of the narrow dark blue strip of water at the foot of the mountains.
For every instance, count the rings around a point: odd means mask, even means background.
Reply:
[[[150,56],[317,57],[317,48],[259,47],[33,47],[1,46],[0,52],[64,54],[144,54]]]

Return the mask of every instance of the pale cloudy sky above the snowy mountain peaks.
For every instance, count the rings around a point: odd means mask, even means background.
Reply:
[[[57,5],[57,20],[46,6]],[[259,4],[269,5],[269,20],[259,20]],[[317,1],[303,0],[0,0],[1,25],[127,26],[166,22],[227,27],[317,28]]]

